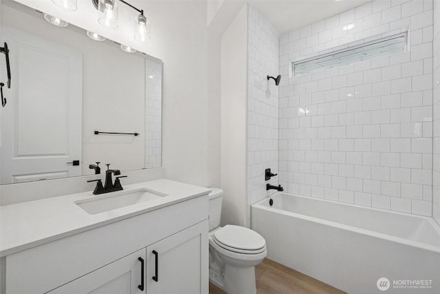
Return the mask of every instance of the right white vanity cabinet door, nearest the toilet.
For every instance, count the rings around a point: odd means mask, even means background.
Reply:
[[[208,293],[208,220],[146,247],[147,294]]]

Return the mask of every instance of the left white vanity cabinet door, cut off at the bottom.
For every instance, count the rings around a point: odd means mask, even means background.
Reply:
[[[92,271],[48,293],[50,294],[137,294],[145,293],[145,249]],[[143,275],[143,276],[142,276]]]

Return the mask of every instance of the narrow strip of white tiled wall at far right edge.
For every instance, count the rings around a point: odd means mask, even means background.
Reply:
[[[440,224],[440,0],[434,0],[432,216]],[[429,39],[429,36],[427,36]],[[417,207],[419,209],[419,207]]]

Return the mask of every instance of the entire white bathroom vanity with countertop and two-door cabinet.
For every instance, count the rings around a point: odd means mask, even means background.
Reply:
[[[0,207],[0,293],[208,293],[209,191],[162,179]]]

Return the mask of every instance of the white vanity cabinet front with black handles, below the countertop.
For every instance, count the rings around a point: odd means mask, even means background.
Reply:
[[[5,294],[208,293],[208,197],[7,255],[5,271]]]

